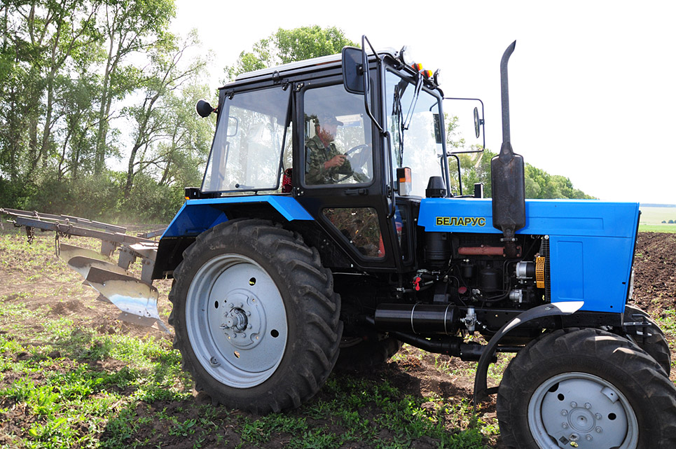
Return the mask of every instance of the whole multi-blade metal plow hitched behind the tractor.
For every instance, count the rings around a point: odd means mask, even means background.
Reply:
[[[152,238],[161,235],[163,230],[134,236],[127,235],[127,228],[122,226],[76,216],[19,209],[0,209],[0,214],[8,217],[14,226],[25,228],[29,243],[33,242],[36,230],[53,231],[56,255],[83,277],[85,285],[99,293],[99,301],[120,309],[118,319],[170,332],[160,319],[159,294],[151,279],[158,248]],[[62,242],[71,236],[98,239],[101,247],[95,251]],[[129,270],[137,260],[142,265],[140,279]]]

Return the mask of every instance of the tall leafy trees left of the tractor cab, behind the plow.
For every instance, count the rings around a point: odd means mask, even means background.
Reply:
[[[214,96],[173,0],[0,4],[0,206],[166,221],[199,185]]]

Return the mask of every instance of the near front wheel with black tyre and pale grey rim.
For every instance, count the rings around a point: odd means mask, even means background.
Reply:
[[[598,329],[554,331],[521,350],[497,417],[509,448],[676,447],[676,388],[639,347]]]

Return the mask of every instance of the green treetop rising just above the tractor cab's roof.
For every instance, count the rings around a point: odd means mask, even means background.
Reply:
[[[294,29],[280,28],[254,43],[251,50],[242,51],[237,62],[224,69],[228,78],[226,81],[233,81],[237,75],[247,71],[312,57],[336,55],[345,46],[357,46],[357,43],[347,39],[343,30],[336,27],[322,28],[315,25]]]

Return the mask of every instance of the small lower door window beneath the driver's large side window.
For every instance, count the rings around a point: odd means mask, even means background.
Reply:
[[[373,207],[332,207],[324,216],[366,257],[385,257],[378,212]]]

